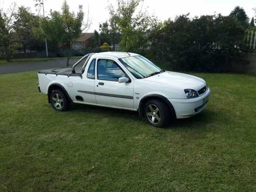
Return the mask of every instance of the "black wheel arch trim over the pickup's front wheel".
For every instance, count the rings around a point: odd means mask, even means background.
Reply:
[[[140,116],[143,116],[143,109],[144,109],[144,106],[145,106],[146,102],[149,101],[149,100],[152,100],[152,99],[157,99],[157,100],[160,100],[160,101],[163,101],[164,103],[166,103],[168,108],[170,109],[170,111],[172,112],[174,117],[176,118],[176,112],[175,112],[174,107],[172,106],[171,102],[166,97],[164,97],[163,95],[160,95],[160,94],[145,95],[140,100],[140,104],[139,104],[139,107],[138,107],[138,112],[139,112]]]

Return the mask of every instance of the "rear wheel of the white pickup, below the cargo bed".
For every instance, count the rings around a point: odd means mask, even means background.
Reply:
[[[70,101],[61,90],[52,90],[50,95],[51,106],[57,111],[70,109]]]

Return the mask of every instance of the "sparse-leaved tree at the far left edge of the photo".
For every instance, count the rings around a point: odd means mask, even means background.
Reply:
[[[11,45],[18,41],[15,25],[19,18],[16,17],[16,14],[17,6],[15,3],[11,4],[7,12],[0,11],[0,45],[3,47],[7,61],[10,60]]]

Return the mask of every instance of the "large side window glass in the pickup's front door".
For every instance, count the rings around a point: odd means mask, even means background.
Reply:
[[[112,60],[99,59],[97,71],[100,80],[118,81],[120,77],[125,77],[123,70]]]

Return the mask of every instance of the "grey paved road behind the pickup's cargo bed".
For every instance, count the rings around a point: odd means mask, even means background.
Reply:
[[[74,64],[78,59],[71,59],[70,64]],[[45,70],[47,68],[65,67],[65,66],[66,66],[65,59],[42,61],[42,62],[28,62],[28,63],[20,63],[20,64],[7,64],[7,65],[0,65],[0,74],[16,73],[16,72],[24,72],[24,71],[37,71],[37,70]]]

